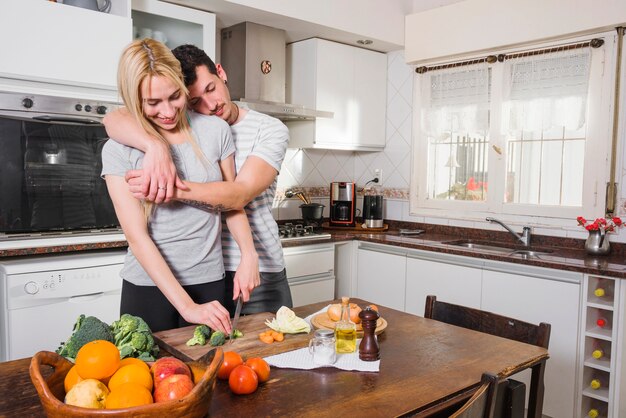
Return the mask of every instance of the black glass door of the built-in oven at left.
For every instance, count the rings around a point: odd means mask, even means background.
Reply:
[[[118,228],[100,177],[107,139],[90,119],[0,115],[0,232]]]

